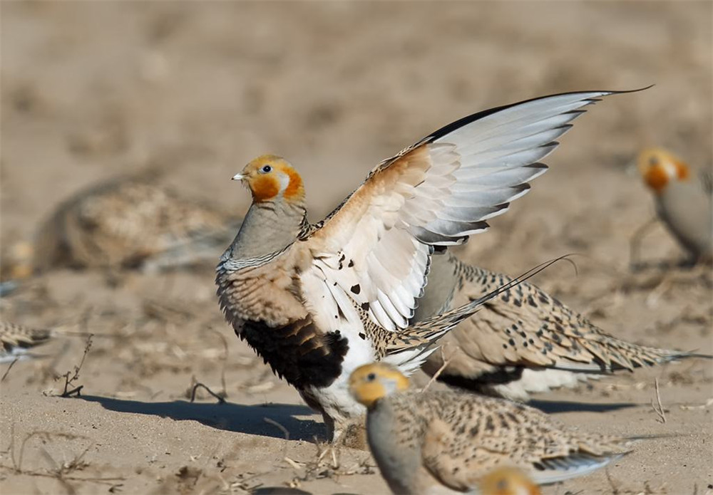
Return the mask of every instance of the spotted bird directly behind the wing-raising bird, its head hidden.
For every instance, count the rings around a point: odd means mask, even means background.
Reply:
[[[469,266],[449,253],[434,256],[426,291],[411,321],[511,282],[506,275]],[[523,401],[533,392],[571,387],[618,370],[710,358],[615,338],[527,281],[484,303],[476,316],[439,344],[443,352],[431,355],[424,371],[434,375],[441,370],[438,380],[448,385]]]

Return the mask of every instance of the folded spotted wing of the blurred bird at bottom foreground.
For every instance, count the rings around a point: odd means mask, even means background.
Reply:
[[[542,412],[504,400],[463,395],[438,407],[421,462],[458,491],[472,489],[483,474],[503,465],[523,469],[537,484],[556,483],[589,474],[630,450],[627,439],[570,433]]]

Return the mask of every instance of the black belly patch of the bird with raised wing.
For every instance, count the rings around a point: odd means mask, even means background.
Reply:
[[[246,321],[242,332],[235,333],[247,340],[277,376],[298,389],[332,385],[342,373],[342,361],[349,350],[349,340],[339,330],[320,335],[307,321],[284,328]]]

